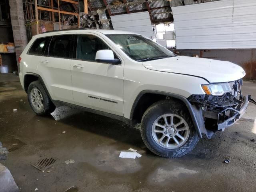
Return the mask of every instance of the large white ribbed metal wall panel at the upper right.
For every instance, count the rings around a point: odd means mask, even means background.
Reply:
[[[256,0],[172,8],[177,49],[256,48]]]

